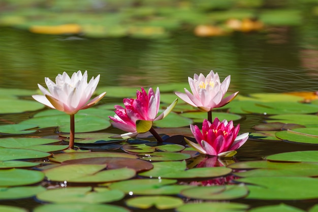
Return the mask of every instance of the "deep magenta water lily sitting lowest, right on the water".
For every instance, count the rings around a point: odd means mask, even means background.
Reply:
[[[236,154],[236,149],[248,139],[248,133],[238,135],[240,125],[234,127],[232,120],[228,122],[224,119],[220,122],[218,118],[215,118],[211,124],[204,119],[202,132],[198,126],[190,125],[190,129],[198,143],[186,138],[185,141],[199,153],[210,156],[232,157]]]

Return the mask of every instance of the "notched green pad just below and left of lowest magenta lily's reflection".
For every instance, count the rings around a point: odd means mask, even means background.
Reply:
[[[187,169],[185,161],[155,162],[153,169],[140,173],[141,176],[161,177],[173,179],[211,178],[231,173],[232,169],[226,167],[203,167]]]

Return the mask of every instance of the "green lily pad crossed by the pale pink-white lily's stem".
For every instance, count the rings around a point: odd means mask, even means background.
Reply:
[[[208,118],[207,112],[185,112],[181,113],[181,116],[192,118],[195,123],[202,123],[204,119]],[[219,120],[239,120],[242,116],[234,113],[224,113],[224,112],[214,112],[212,111],[212,116],[217,117]]]

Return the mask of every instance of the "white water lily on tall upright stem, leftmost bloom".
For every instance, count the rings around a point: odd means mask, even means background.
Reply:
[[[33,95],[32,97],[38,102],[67,114],[76,114],[81,109],[86,109],[99,102],[106,94],[99,95],[92,99],[100,75],[95,79],[92,77],[87,83],[87,71],[82,75],[81,71],[75,72],[72,77],[63,72],[55,78],[55,83],[48,77],[45,77],[45,83],[48,90],[38,84],[43,95]]]

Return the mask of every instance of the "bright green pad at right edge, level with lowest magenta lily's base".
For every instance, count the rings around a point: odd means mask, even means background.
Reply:
[[[318,162],[318,151],[306,150],[288,153],[279,153],[267,156],[269,161],[289,161],[289,162]]]

